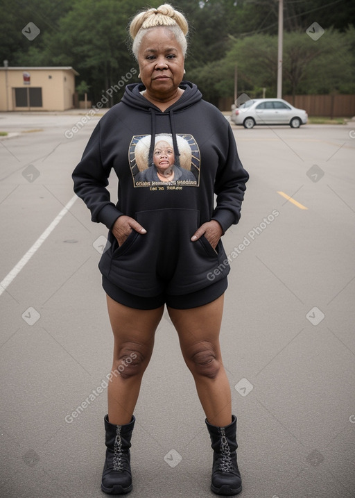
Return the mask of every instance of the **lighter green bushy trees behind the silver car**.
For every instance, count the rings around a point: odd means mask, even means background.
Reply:
[[[317,40],[306,33],[284,33],[284,94],[355,92],[354,28],[345,33],[328,29]],[[275,97],[277,36],[252,35],[232,40],[226,56],[192,72],[204,97],[234,94],[234,67],[238,67],[239,94]]]

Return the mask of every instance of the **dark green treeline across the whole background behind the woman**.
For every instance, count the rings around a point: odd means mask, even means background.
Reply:
[[[205,99],[216,103],[234,94],[236,64],[239,93],[257,97],[266,88],[275,95],[278,0],[171,1],[189,21],[187,78]],[[71,65],[88,83],[93,102],[123,83],[110,105],[121,99],[126,74],[138,81],[128,23],[144,8],[141,0],[0,0],[0,8],[0,63]],[[32,41],[21,33],[30,19],[40,28]],[[306,35],[313,22],[325,30],[316,42]],[[352,0],[284,0],[284,92],[354,91],[354,28],[348,24],[355,24]]]

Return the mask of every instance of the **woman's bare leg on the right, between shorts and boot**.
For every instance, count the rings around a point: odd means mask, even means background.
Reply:
[[[168,313],[178,331],[182,355],[193,374],[207,421],[219,427],[229,425],[232,422],[230,383],[219,345],[223,296],[189,310],[168,308]]]

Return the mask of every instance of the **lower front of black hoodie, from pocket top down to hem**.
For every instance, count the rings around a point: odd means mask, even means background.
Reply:
[[[229,272],[229,267],[218,270],[226,257],[222,242],[215,250],[204,235],[191,241],[200,226],[199,210],[146,210],[135,213],[135,219],[147,233],[132,231],[119,246],[110,232],[111,246],[99,263],[107,279],[123,290],[143,297],[184,294],[211,285],[211,272],[214,281]]]

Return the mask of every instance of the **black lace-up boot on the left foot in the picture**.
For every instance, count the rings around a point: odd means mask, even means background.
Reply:
[[[125,495],[132,491],[130,472],[130,439],[135,417],[129,424],[114,425],[105,415],[106,460],[103,467],[101,489],[108,495]]]

